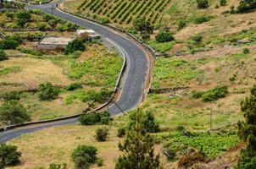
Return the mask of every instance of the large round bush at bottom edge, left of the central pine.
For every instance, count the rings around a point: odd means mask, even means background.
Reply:
[[[97,149],[90,145],[78,145],[73,150],[71,158],[76,169],[86,169],[97,160]]]

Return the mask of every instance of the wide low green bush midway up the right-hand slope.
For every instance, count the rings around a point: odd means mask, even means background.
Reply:
[[[228,94],[227,86],[217,86],[213,90],[209,90],[203,93],[203,101],[217,101],[220,98],[224,98]]]

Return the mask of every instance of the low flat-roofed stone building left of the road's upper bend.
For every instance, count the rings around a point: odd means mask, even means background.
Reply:
[[[42,50],[64,48],[70,41],[74,40],[75,38],[70,37],[45,36],[41,41],[39,41],[37,48]]]

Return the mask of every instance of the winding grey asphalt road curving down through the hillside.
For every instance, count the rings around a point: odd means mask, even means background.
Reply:
[[[123,111],[129,111],[135,108],[139,102],[142,100],[143,95],[143,85],[147,79],[147,73],[149,71],[149,61],[147,60],[147,54],[144,52],[144,49],[141,46],[138,46],[134,41],[131,41],[129,38],[124,35],[120,35],[114,30],[93,23],[86,19],[78,18],[71,14],[66,14],[61,12],[53,6],[61,3],[61,1],[55,3],[47,3],[45,5],[37,6],[28,6],[27,8],[40,8],[43,12],[58,16],[59,18],[69,20],[70,22],[86,27],[92,30],[95,30],[98,34],[103,35],[105,38],[108,38],[111,41],[114,41],[115,44],[118,44],[120,49],[125,53],[127,66],[125,70],[125,75],[122,77],[122,90],[120,93],[119,100],[117,105],[109,106],[109,113],[112,116],[119,115]],[[32,133],[44,128],[51,128],[57,125],[66,125],[71,123],[77,123],[77,118],[64,120],[54,123],[43,123],[40,125],[32,125],[24,128],[17,128],[4,131],[0,133],[0,143],[7,142],[8,140],[14,139],[22,134]]]

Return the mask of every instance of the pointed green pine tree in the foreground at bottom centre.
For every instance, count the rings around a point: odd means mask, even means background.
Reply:
[[[128,131],[123,144],[119,144],[124,155],[120,155],[115,169],[161,168],[159,155],[154,155],[153,137],[147,134],[142,123],[142,112],[136,112],[136,125]]]

